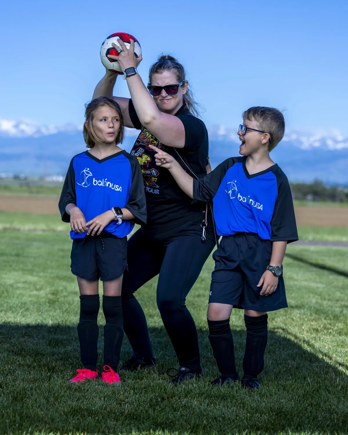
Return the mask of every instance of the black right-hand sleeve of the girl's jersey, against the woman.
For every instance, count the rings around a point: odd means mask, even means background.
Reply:
[[[132,222],[135,224],[146,224],[146,198],[143,181],[143,173],[136,157],[127,153],[130,166],[132,168],[132,184],[129,190],[128,202],[124,208],[134,214],[136,219]]]

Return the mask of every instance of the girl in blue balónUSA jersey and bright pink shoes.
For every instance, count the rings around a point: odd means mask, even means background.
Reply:
[[[103,281],[104,371],[102,379],[118,383],[116,373],[123,339],[121,286],[127,267],[127,234],[134,222],[146,224],[142,173],[135,157],[122,150],[124,121],[116,101],[107,97],[86,106],[83,137],[88,151],[77,154],[60,196],[64,222],[70,222],[71,271],[80,289],[77,333],[83,364],[72,382],[98,378],[99,278]]]

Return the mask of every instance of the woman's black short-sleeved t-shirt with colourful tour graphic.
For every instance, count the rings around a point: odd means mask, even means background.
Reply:
[[[167,231],[196,219],[200,222],[202,217],[202,204],[191,204],[191,199],[176,184],[170,172],[156,166],[154,157],[156,152],[148,147],[153,145],[166,151],[190,174],[176,154],[178,152],[197,177],[204,177],[209,149],[205,124],[189,113],[186,104],[180,107],[175,116],[182,121],[185,128],[183,148],[168,147],[159,142],[141,125],[132,100],[129,100],[129,117],[134,127],[141,130],[130,154],[137,157],[143,172],[147,206],[147,224],[144,230],[150,232]]]

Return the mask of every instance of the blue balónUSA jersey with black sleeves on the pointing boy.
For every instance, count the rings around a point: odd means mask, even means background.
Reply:
[[[250,175],[246,157],[230,157],[193,181],[193,200],[212,201],[220,236],[257,233],[271,241],[298,240],[288,179],[277,164]]]

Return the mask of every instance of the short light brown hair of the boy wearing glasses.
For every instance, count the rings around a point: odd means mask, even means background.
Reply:
[[[282,140],[285,132],[285,120],[282,112],[274,107],[255,106],[245,110],[242,114],[243,120],[255,121],[259,124],[260,130],[269,133],[271,143],[268,151],[272,151]]]

